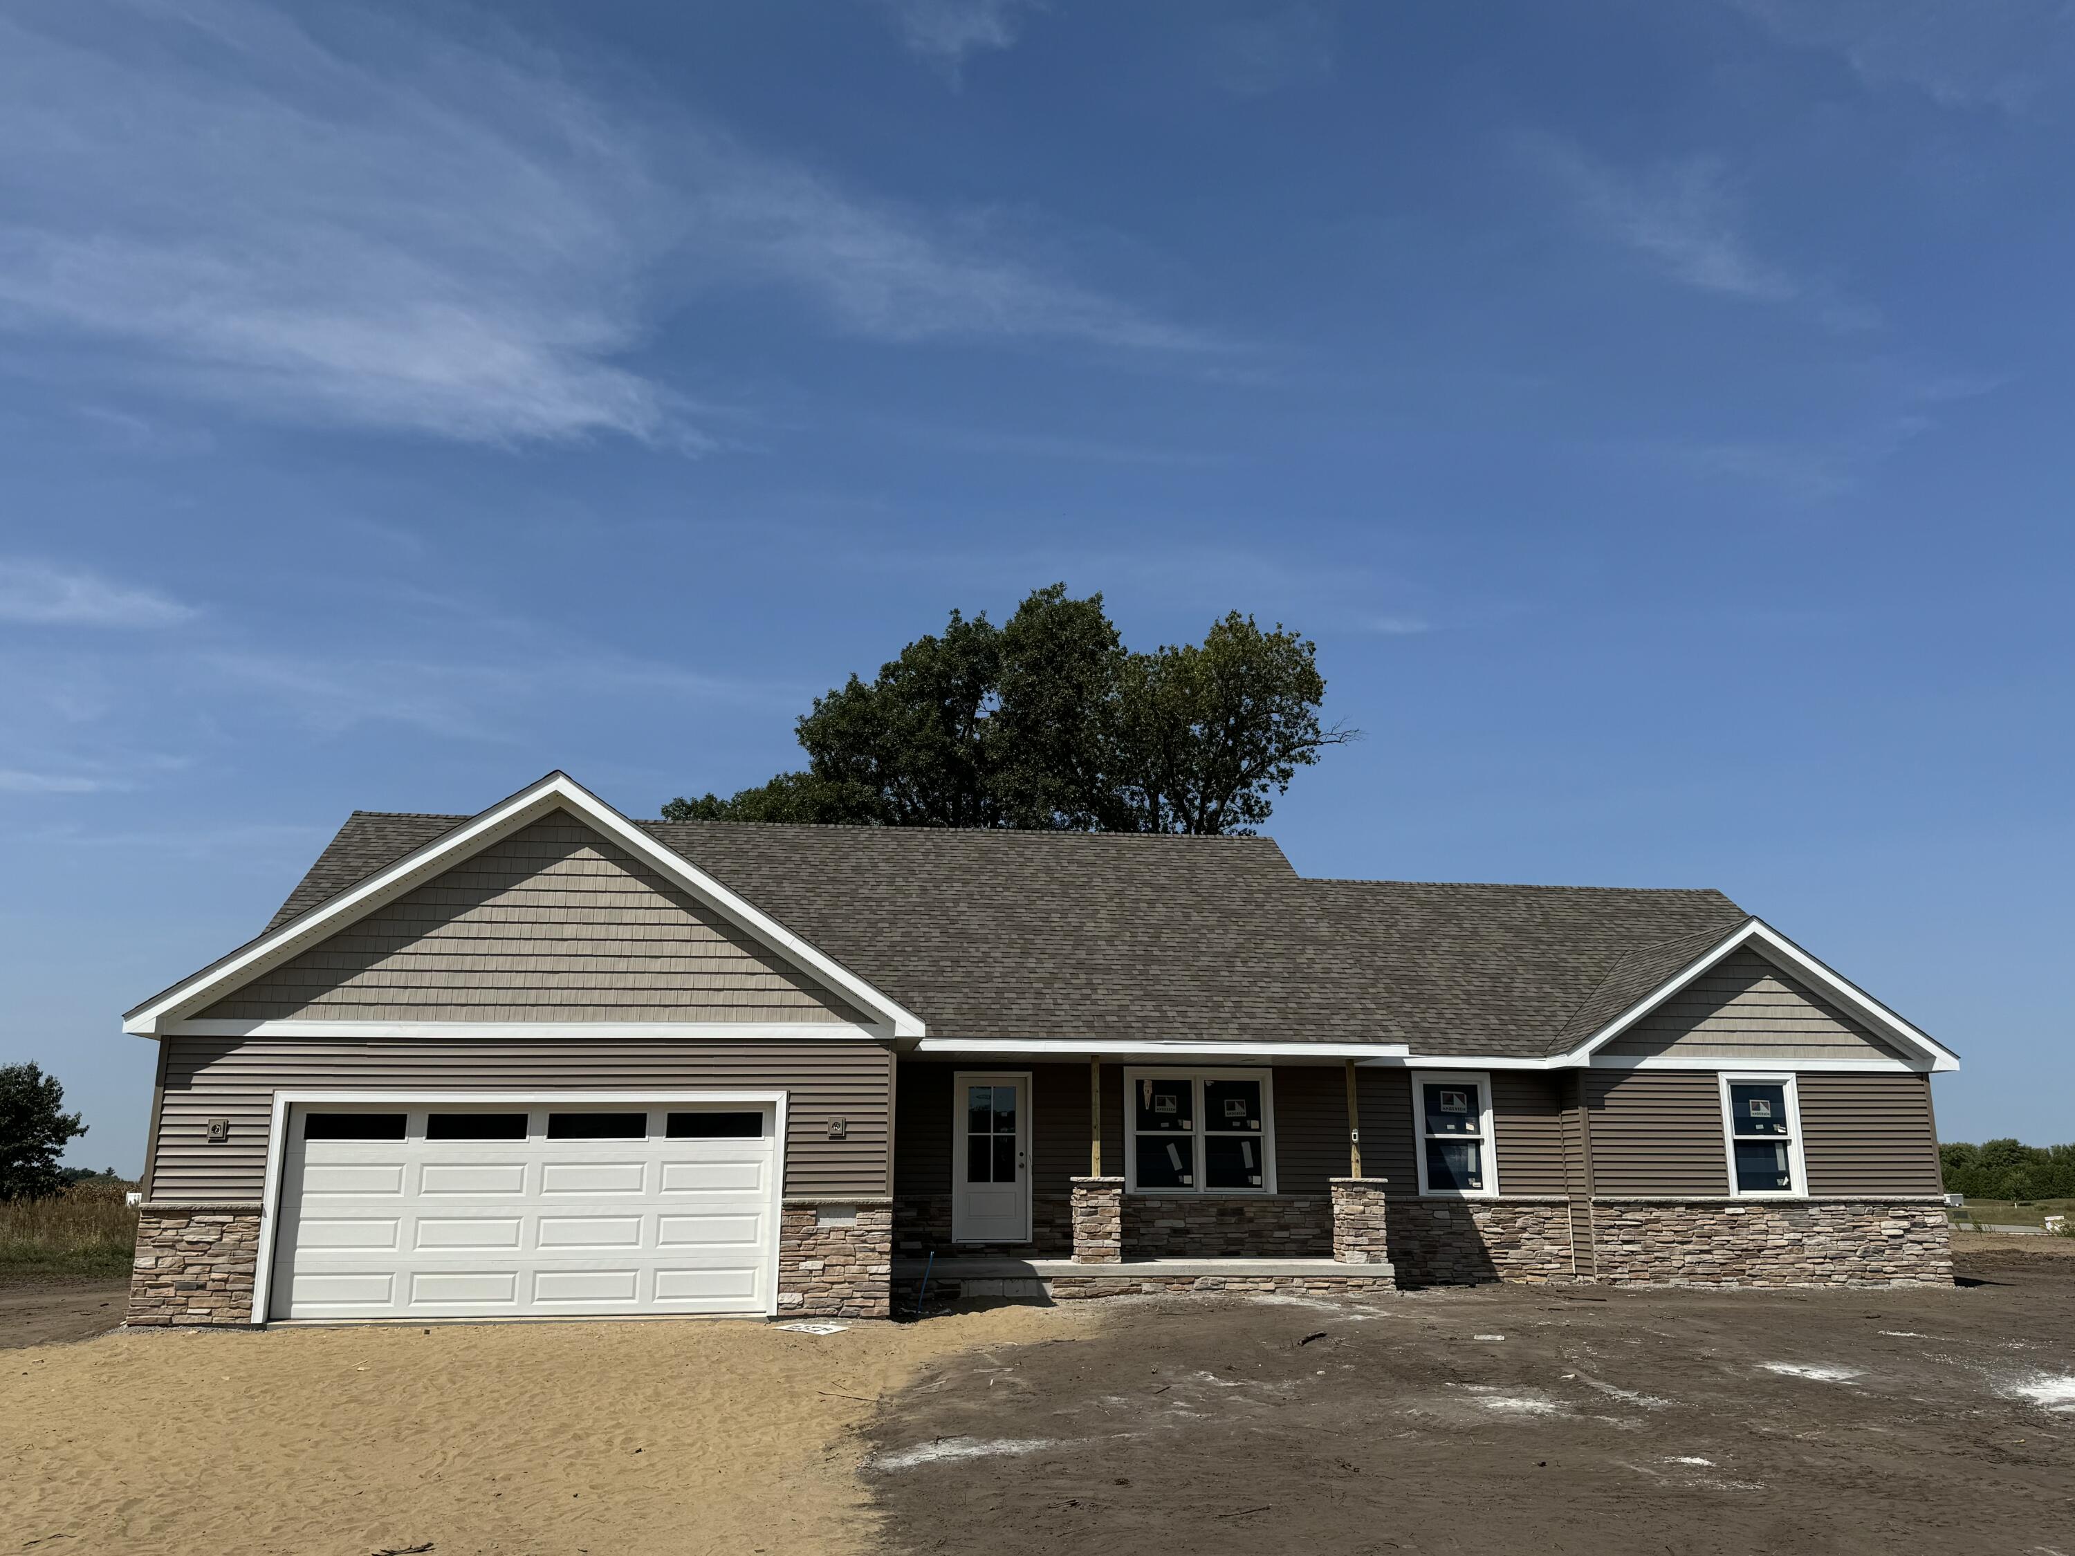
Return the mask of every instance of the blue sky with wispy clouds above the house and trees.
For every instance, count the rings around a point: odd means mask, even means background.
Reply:
[[[2075,1139],[2075,21],[0,17],[0,1060],[353,807],[654,815],[950,606],[1318,639],[1318,876],[1720,886]]]

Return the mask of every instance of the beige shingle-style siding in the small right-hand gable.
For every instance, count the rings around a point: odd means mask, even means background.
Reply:
[[[1602,1054],[1795,1060],[1899,1058],[1894,1048],[1764,956],[1733,950]]]

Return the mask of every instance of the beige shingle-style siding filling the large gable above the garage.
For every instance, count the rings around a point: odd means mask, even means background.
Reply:
[[[195,1012],[228,1021],[861,1021],[558,811]]]

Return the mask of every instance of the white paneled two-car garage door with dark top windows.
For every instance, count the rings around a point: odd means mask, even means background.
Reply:
[[[297,1104],[268,1317],[768,1313],[772,1102]]]

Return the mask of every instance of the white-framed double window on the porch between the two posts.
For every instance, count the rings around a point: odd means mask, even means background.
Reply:
[[[1133,1193],[1274,1193],[1268,1071],[1125,1071]]]

